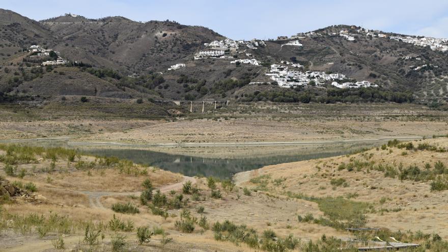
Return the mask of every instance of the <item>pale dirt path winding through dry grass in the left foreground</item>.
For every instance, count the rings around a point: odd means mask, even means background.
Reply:
[[[165,185],[160,188],[157,188],[160,190],[160,192],[169,192],[171,190],[177,190],[182,188],[183,184],[187,181],[190,181],[192,184],[196,183],[196,179],[193,177],[183,176],[183,180],[178,183]],[[101,198],[105,196],[129,196],[129,195],[140,195],[141,191],[136,192],[111,192],[111,191],[74,191],[79,192],[82,194],[86,194],[89,198],[89,203],[92,208],[100,208],[100,209],[106,209],[103,204],[101,203]]]

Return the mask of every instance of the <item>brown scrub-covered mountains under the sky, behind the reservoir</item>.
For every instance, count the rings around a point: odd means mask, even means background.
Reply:
[[[206,27],[168,20],[142,23],[124,17],[89,19],[68,14],[34,21],[0,10],[0,91],[49,98],[243,100],[254,92],[285,92],[285,88],[260,83],[271,82],[266,75],[271,64],[289,61],[303,65],[302,71],[341,73],[368,80],[382,90],[448,97],[446,52],[389,39],[397,34],[371,31],[372,36],[360,30],[359,26],[333,25],[282,40],[235,42],[238,49],[226,50],[230,59],[193,60],[199,51],[211,49],[205,43],[226,37]],[[295,40],[302,46],[285,45]],[[255,42],[259,45],[254,46]],[[24,50],[31,45],[57,51],[78,67],[39,70],[40,62],[25,60],[30,52]],[[235,59],[256,59],[260,65],[231,64]],[[185,67],[167,71],[177,63]],[[322,87],[295,92],[321,95]]]

